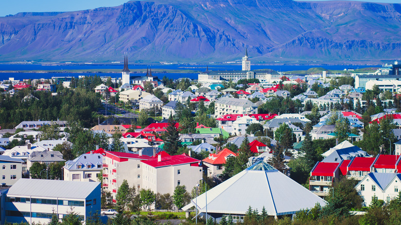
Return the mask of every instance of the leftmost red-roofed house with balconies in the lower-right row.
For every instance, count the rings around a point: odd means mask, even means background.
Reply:
[[[340,163],[317,162],[309,178],[309,190],[317,196],[326,196],[333,186],[333,179],[339,177]]]

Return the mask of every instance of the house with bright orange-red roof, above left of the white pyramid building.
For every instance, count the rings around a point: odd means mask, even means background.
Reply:
[[[224,148],[217,154],[211,153],[209,157],[202,160],[208,168],[208,177],[221,177],[223,175],[224,164],[226,160],[230,157],[237,157],[238,154],[233,153],[228,148]]]

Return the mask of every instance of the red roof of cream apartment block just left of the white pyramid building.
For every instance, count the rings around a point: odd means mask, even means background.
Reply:
[[[164,151],[162,151],[164,152]],[[162,153],[159,152],[154,158],[146,161],[141,161],[145,164],[148,164],[153,167],[161,167],[161,166],[172,166],[172,165],[181,165],[181,164],[191,164],[195,162],[200,162],[200,160],[191,158],[187,156],[186,154],[182,155],[175,155],[175,156],[170,156],[166,152]],[[161,161],[158,161],[158,156],[161,155]]]

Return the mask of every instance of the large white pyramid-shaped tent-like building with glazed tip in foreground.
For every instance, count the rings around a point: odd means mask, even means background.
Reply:
[[[242,219],[249,206],[258,212],[265,207],[268,215],[276,217],[311,209],[316,203],[323,207],[326,201],[266,162],[259,161],[192,199],[182,209],[187,211],[197,204],[199,213],[207,212],[218,221],[223,215]]]

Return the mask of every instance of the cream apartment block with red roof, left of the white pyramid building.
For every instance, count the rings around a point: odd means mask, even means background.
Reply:
[[[186,154],[170,156],[159,152],[150,160],[142,160],[142,189],[154,193],[173,195],[177,185],[185,185],[192,190],[203,175],[203,163]]]

